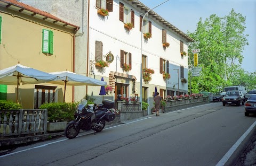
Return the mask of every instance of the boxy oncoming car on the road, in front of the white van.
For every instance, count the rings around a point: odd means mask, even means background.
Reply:
[[[240,106],[241,102],[244,104],[244,95],[242,91],[228,91],[222,98],[223,106],[226,104],[236,104],[236,106]]]

